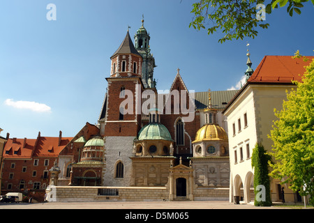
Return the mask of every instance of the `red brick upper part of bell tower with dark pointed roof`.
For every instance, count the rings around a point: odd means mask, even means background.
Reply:
[[[142,56],[135,49],[127,31],[120,47],[110,57],[107,77],[107,117],[105,136],[133,136],[140,130],[137,94],[142,93]]]

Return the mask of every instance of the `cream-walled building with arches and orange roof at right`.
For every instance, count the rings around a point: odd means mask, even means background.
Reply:
[[[307,66],[314,56],[306,56],[308,61],[292,56],[264,56],[254,71],[251,68],[250,54],[246,84],[234,95],[223,114],[227,117],[230,150],[230,202],[238,197],[244,203],[254,201],[254,169],[251,155],[256,143],[271,151],[273,141],[268,138],[273,121],[274,109],[281,110],[286,91],[295,89],[293,81],[302,81]],[[271,200],[282,201],[280,180],[271,178]],[[301,201],[285,185],[285,201]]]

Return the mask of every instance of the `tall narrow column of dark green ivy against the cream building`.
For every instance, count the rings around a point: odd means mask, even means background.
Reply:
[[[270,181],[269,181],[269,160],[270,155],[265,151],[262,144],[256,144],[252,153],[252,167],[254,167],[254,205],[255,206],[271,206],[270,196]],[[260,185],[263,186],[264,191],[262,199],[260,197]]]

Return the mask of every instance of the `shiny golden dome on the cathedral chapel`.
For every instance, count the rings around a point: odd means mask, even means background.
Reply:
[[[206,124],[196,132],[192,143],[211,140],[228,140],[227,133],[217,124]]]

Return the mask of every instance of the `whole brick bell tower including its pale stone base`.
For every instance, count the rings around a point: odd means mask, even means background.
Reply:
[[[110,57],[111,72],[107,93],[100,113],[100,134],[105,141],[105,186],[128,186],[132,175],[133,139],[141,128],[138,110],[144,85],[142,56],[135,49],[127,31],[126,37]]]

